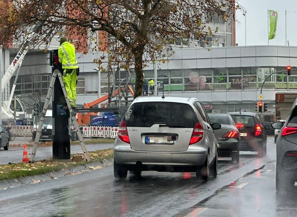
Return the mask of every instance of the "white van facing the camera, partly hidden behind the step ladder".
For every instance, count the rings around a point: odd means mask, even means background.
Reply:
[[[40,116],[34,116],[32,118],[32,121],[31,121],[32,141],[35,140],[36,131],[39,127],[39,122],[40,122]],[[53,129],[53,111],[47,110],[45,114],[42,130],[41,130],[40,141],[52,141],[53,140],[52,129]]]

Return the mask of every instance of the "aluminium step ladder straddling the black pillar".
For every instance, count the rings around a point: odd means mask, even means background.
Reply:
[[[86,150],[85,141],[83,140],[83,136],[82,136],[82,134],[80,132],[78,122],[76,120],[76,113],[73,112],[73,110],[72,110],[72,108],[70,106],[70,102],[69,102],[69,99],[67,97],[65,86],[63,84],[61,72],[56,69],[56,70],[54,70],[54,72],[52,74],[52,79],[50,80],[49,90],[48,90],[48,93],[47,93],[46,98],[45,98],[45,104],[43,106],[42,112],[40,113],[40,122],[39,122],[39,126],[38,126],[38,129],[37,129],[37,132],[36,132],[36,137],[35,137],[33,149],[32,149],[30,160],[29,160],[30,163],[34,162],[34,158],[35,158],[36,151],[37,151],[37,145],[39,143],[43,122],[44,122],[44,119],[45,119],[45,114],[46,114],[46,111],[48,109],[48,105],[50,104],[50,97],[53,94],[53,86],[54,86],[54,83],[55,83],[57,77],[59,78],[59,81],[60,81],[60,84],[61,84],[61,87],[62,87],[62,90],[63,90],[63,94],[64,94],[64,97],[66,99],[66,103],[67,103],[69,113],[70,113],[70,119],[72,120],[72,122],[74,124],[76,133],[78,134],[78,138],[79,138],[79,141],[80,141],[80,146],[81,146],[81,148],[83,150],[83,154],[85,156],[86,161],[89,161],[89,155],[88,155],[88,152]]]

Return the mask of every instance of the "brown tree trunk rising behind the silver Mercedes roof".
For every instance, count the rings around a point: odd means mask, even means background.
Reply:
[[[143,87],[143,47],[138,47],[135,52],[135,93],[134,99],[138,96],[142,96],[142,87]]]

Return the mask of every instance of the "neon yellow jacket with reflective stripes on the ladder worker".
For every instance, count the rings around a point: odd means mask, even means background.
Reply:
[[[75,47],[68,41],[61,44],[58,50],[59,62],[62,63],[62,69],[77,69],[75,57]]]

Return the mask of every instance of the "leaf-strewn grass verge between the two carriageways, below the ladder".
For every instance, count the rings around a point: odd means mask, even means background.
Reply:
[[[90,161],[56,161],[53,159],[37,161],[34,163],[17,163],[0,165],[0,180],[16,179],[32,175],[40,175],[49,172],[56,172],[62,169],[71,169],[75,166],[86,165],[94,162],[102,162],[113,158],[113,148],[105,150],[90,151]],[[96,168],[97,169],[97,168]]]

